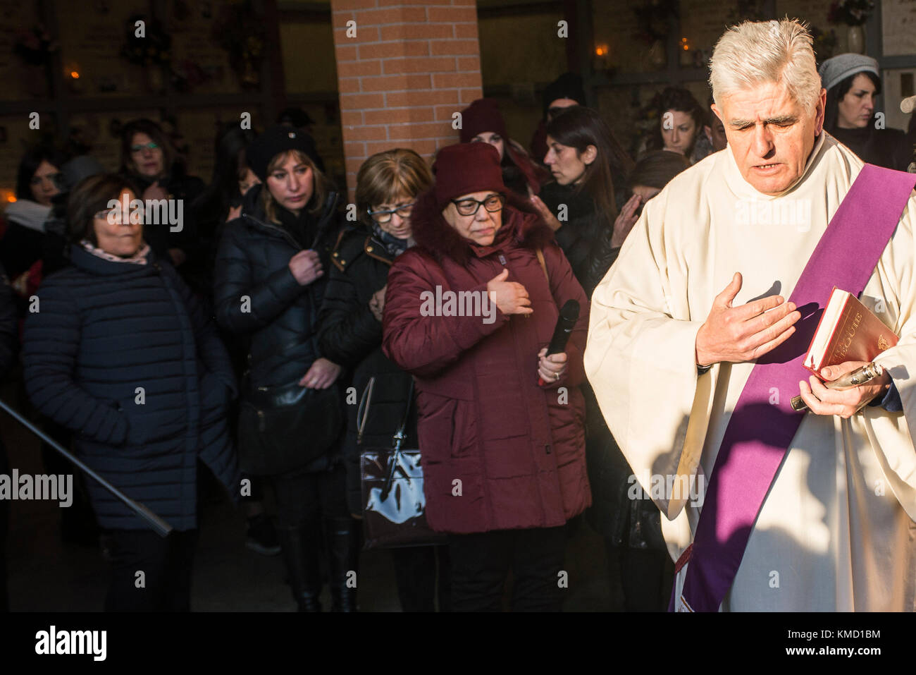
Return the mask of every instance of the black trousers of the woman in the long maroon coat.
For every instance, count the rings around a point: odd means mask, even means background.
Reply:
[[[513,612],[559,612],[566,527],[450,535],[452,609],[499,612],[512,570]]]

